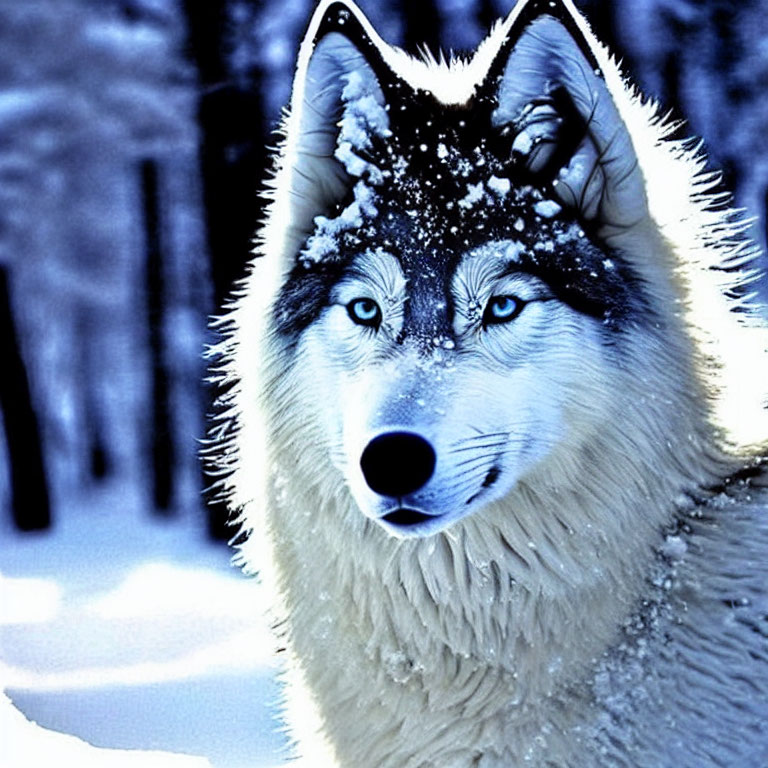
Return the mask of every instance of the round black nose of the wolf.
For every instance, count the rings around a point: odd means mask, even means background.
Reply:
[[[435,450],[411,432],[386,432],[363,451],[360,467],[365,482],[382,496],[407,496],[426,485],[435,471]]]

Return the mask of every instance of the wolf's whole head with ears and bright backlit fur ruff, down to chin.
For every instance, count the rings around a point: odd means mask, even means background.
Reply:
[[[275,460],[242,445],[266,432],[289,471],[326,498],[345,486],[398,537],[511,494],[610,504],[617,488],[650,500],[657,476],[674,477],[665,491],[706,479],[686,313],[716,316],[708,336],[733,319],[686,270],[732,258],[736,227],[707,212],[701,161],[660,144],[657,123],[568,0],[519,3],[451,64],[409,59],[351,3],[321,3],[269,264],[235,316],[230,374],[266,370],[236,410],[267,400],[258,428],[241,417],[237,471]]]

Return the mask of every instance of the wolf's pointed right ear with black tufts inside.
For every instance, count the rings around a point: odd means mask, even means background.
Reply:
[[[509,134],[516,163],[613,241],[648,210],[632,139],[598,65],[600,45],[570,0],[524,0],[507,24],[486,80],[496,88],[493,124]]]

